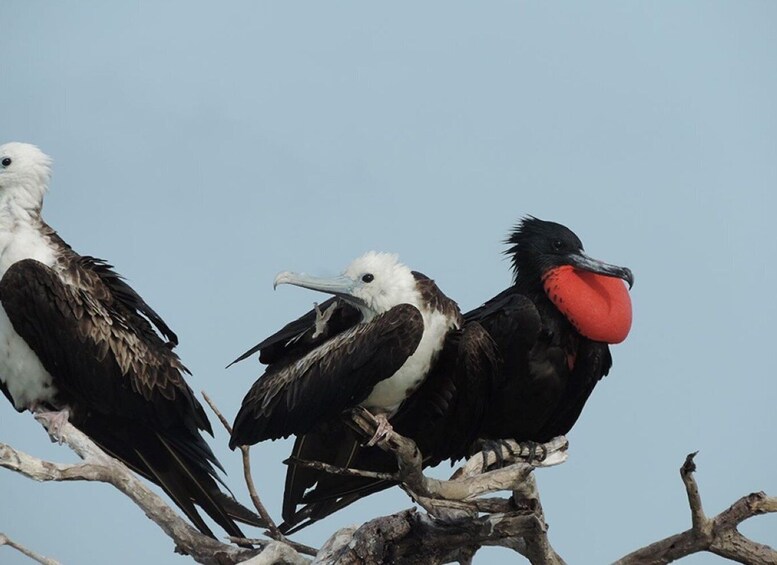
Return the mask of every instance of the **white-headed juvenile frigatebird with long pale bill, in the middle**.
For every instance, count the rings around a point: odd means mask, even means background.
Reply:
[[[243,400],[231,447],[305,434],[357,405],[380,422],[374,443],[423,383],[448,332],[461,326],[456,303],[389,253],[366,253],[334,278],[283,272],[280,284],[336,298],[317,307],[315,319],[308,315],[279,332],[288,339],[276,334],[238,359],[270,341],[285,350]]]

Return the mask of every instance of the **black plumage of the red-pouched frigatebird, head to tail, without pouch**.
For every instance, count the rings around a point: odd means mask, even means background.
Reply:
[[[476,438],[545,442],[566,434],[612,365],[607,343],[582,335],[550,299],[545,282],[555,269],[574,267],[631,285],[631,271],[585,256],[580,239],[554,222],[526,218],[508,243],[514,284],[464,315],[464,333],[478,336],[480,345],[469,354],[465,347],[458,355],[441,355],[424,386],[393,419],[394,429],[419,445],[425,464],[468,454]],[[462,337],[451,335],[451,345]],[[473,362],[489,369],[468,368]],[[335,453],[329,462],[337,466],[396,470],[391,454],[361,447],[342,428],[321,435],[312,444],[298,441],[293,455],[320,460],[316,446],[328,443],[340,447],[328,452]],[[293,492],[287,480],[283,513],[283,528],[291,532],[393,484],[309,469],[297,473],[305,480],[298,479]],[[313,488],[303,495],[303,486]],[[292,502],[303,507],[294,511]]]

